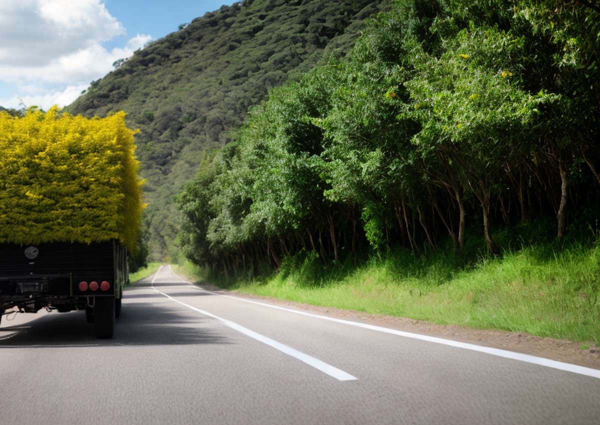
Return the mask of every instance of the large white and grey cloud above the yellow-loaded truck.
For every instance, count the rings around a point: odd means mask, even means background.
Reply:
[[[0,81],[18,88],[26,104],[65,106],[113,62],[152,40],[138,34],[124,47],[103,46],[124,34],[101,0],[1,0]],[[17,106],[16,99],[3,106]]]

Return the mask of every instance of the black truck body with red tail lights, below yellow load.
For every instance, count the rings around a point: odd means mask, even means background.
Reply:
[[[118,241],[0,244],[0,321],[15,311],[85,310],[96,336],[112,338],[128,281],[127,261],[127,248]]]

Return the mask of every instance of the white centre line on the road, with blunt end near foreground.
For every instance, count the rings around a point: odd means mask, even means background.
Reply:
[[[206,312],[205,310],[200,310],[194,306],[190,306],[190,304],[186,304],[186,303],[183,303],[182,301],[176,300],[175,298],[171,297],[170,295],[164,294],[164,292],[158,291],[158,289],[154,288],[154,281],[156,280],[158,273],[161,271],[161,269],[162,269],[162,266],[158,269],[157,273],[154,276],[154,279],[152,279],[152,284],[151,284],[152,289],[154,289],[154,291],[158,292],[158,294],[164,295],[164,297],[169,298],[169,300],[175,301],[175,303],[178,303],[178,304],[181,304],[182,306],[188,307],[188,309],[194,310],[194,312],[198,312],[202,315],[208,316],[209,318],[217,319],[218,321],[220,321],[227,327],[232,328],[233,330],[236,330],[239,333],[244,334],[245,336],[248,336],[252,339],[262,342],[263,344],[271,346],[272,348],[275,348],[278,351],[283,352],[284,354],[290,355],[291,357],[296,358],[296,359],[302,361],[303,363],[306,363],[309,366],[312,366],[315,369],[320,370],[323,373],[326,373],[329,376],[332,376],[332,378],[335,378],[338,381],[356,381],[356,379],[358,379],[355,376],[352,376],[349,373],[346,373],[343,370],[338,369],[337,367],[331,366],[331,364],[325,363],[324,361],[321,361],[321,360],[314,358],[308,354],[304,354],[301,351],[293,349],[290,346],[287,346],[285,344],[282,344],[280,342],[272,340],[269,337],[266,337],[259,333],[254,332],[254,331],[251,331],[250,329],[245,328],[242,325],[238,325],[235,322],[220,318],[219,316],[215,316],[214,314]],[[170,270],[170,267],[169,267],[169,270]],[[173,276],[175,276],[175,274],[173,274]]]

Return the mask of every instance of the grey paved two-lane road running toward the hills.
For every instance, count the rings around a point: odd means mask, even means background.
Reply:
[[[154,284],[152,284],[154,280]],[[600,379],[202,291],[2,322],[0,424],[593,424]]]

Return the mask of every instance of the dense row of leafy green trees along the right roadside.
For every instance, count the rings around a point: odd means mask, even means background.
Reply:
[[[348,58],[272,90],[179,199],[181,243],[227,273],[371,247],[488,253],[498,225],[600,206],[600,14],[558,0],[401,0]],[[513,243],[513,240],[508,241]],[[597,289],[597,288],[596,288]]]

